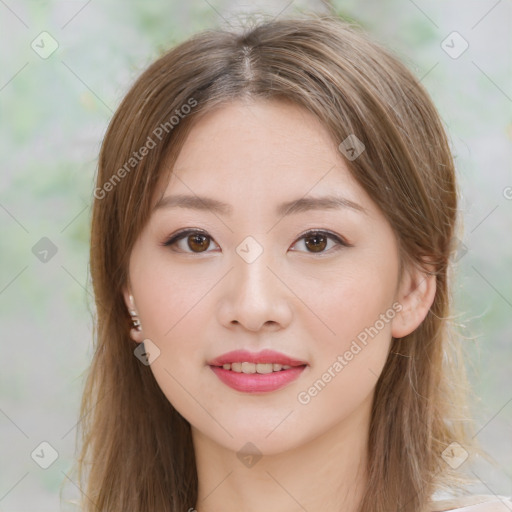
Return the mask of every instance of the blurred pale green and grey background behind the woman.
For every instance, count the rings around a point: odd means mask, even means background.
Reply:
[[[71,510],[59,503],[64,481],[65,499],[79,495],[68,475],[92,353],[90,206],[121,98],[162,51],[199,30],[243,13],[304,11],[368,29],[413,70],[445,122],[465,225],[457,321],[478,439],[496,460],[472,469],[475,492],[512,494],[510,2],[1,0],[0,511]]]

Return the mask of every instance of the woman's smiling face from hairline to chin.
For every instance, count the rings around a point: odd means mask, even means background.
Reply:
[[[158,192],[125,300],[137,341],[151,340],[155,379],[193,431],[272,454],[361,429],[391,337],[404,335],[398,248],[319,121],[282,102],[226,104],[192,129]],[[189,199],[173,206],[178,196]],[[316,202],[327,196],[338,205]],[[199,233],[164,245],[184,230]],[[307,365],[212,369],[235,350]]]

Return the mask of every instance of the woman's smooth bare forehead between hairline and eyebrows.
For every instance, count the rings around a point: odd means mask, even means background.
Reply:
[[[197,121],[157,199],[171,193],[260,208],[327,193],[369,199],[314,114],[276,100],[230,102]]]

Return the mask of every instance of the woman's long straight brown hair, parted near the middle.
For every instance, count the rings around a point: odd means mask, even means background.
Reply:
[[[92,211],[95,353],[77,434],[82,508],[183,512],[196,505],[190,425],[134,357],[122,288],[154,193],[171,172],[164,163],[172,167],[203,113],[245,96],[306,108],[337,145],[356,135],[365,150],[347,165],[391,224],[402,263],[433,265],[432,307],[413,333],[392,340],[376,384],[359,507],[428,510],[435,491],[460,490],[469,481],[449,463],[452,443],[480,453],[451,316],[454,162],[440,118],[412,73],[357,26],[316,14],[196,34],[142,73],[110,122]]]

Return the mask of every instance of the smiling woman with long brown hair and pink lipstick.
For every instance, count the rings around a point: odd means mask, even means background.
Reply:
[[[357,27],[172,49],[114,115],[94,196],[84,510],[510,509],[436,500],[479,452],[454,164],[426,91]]]

